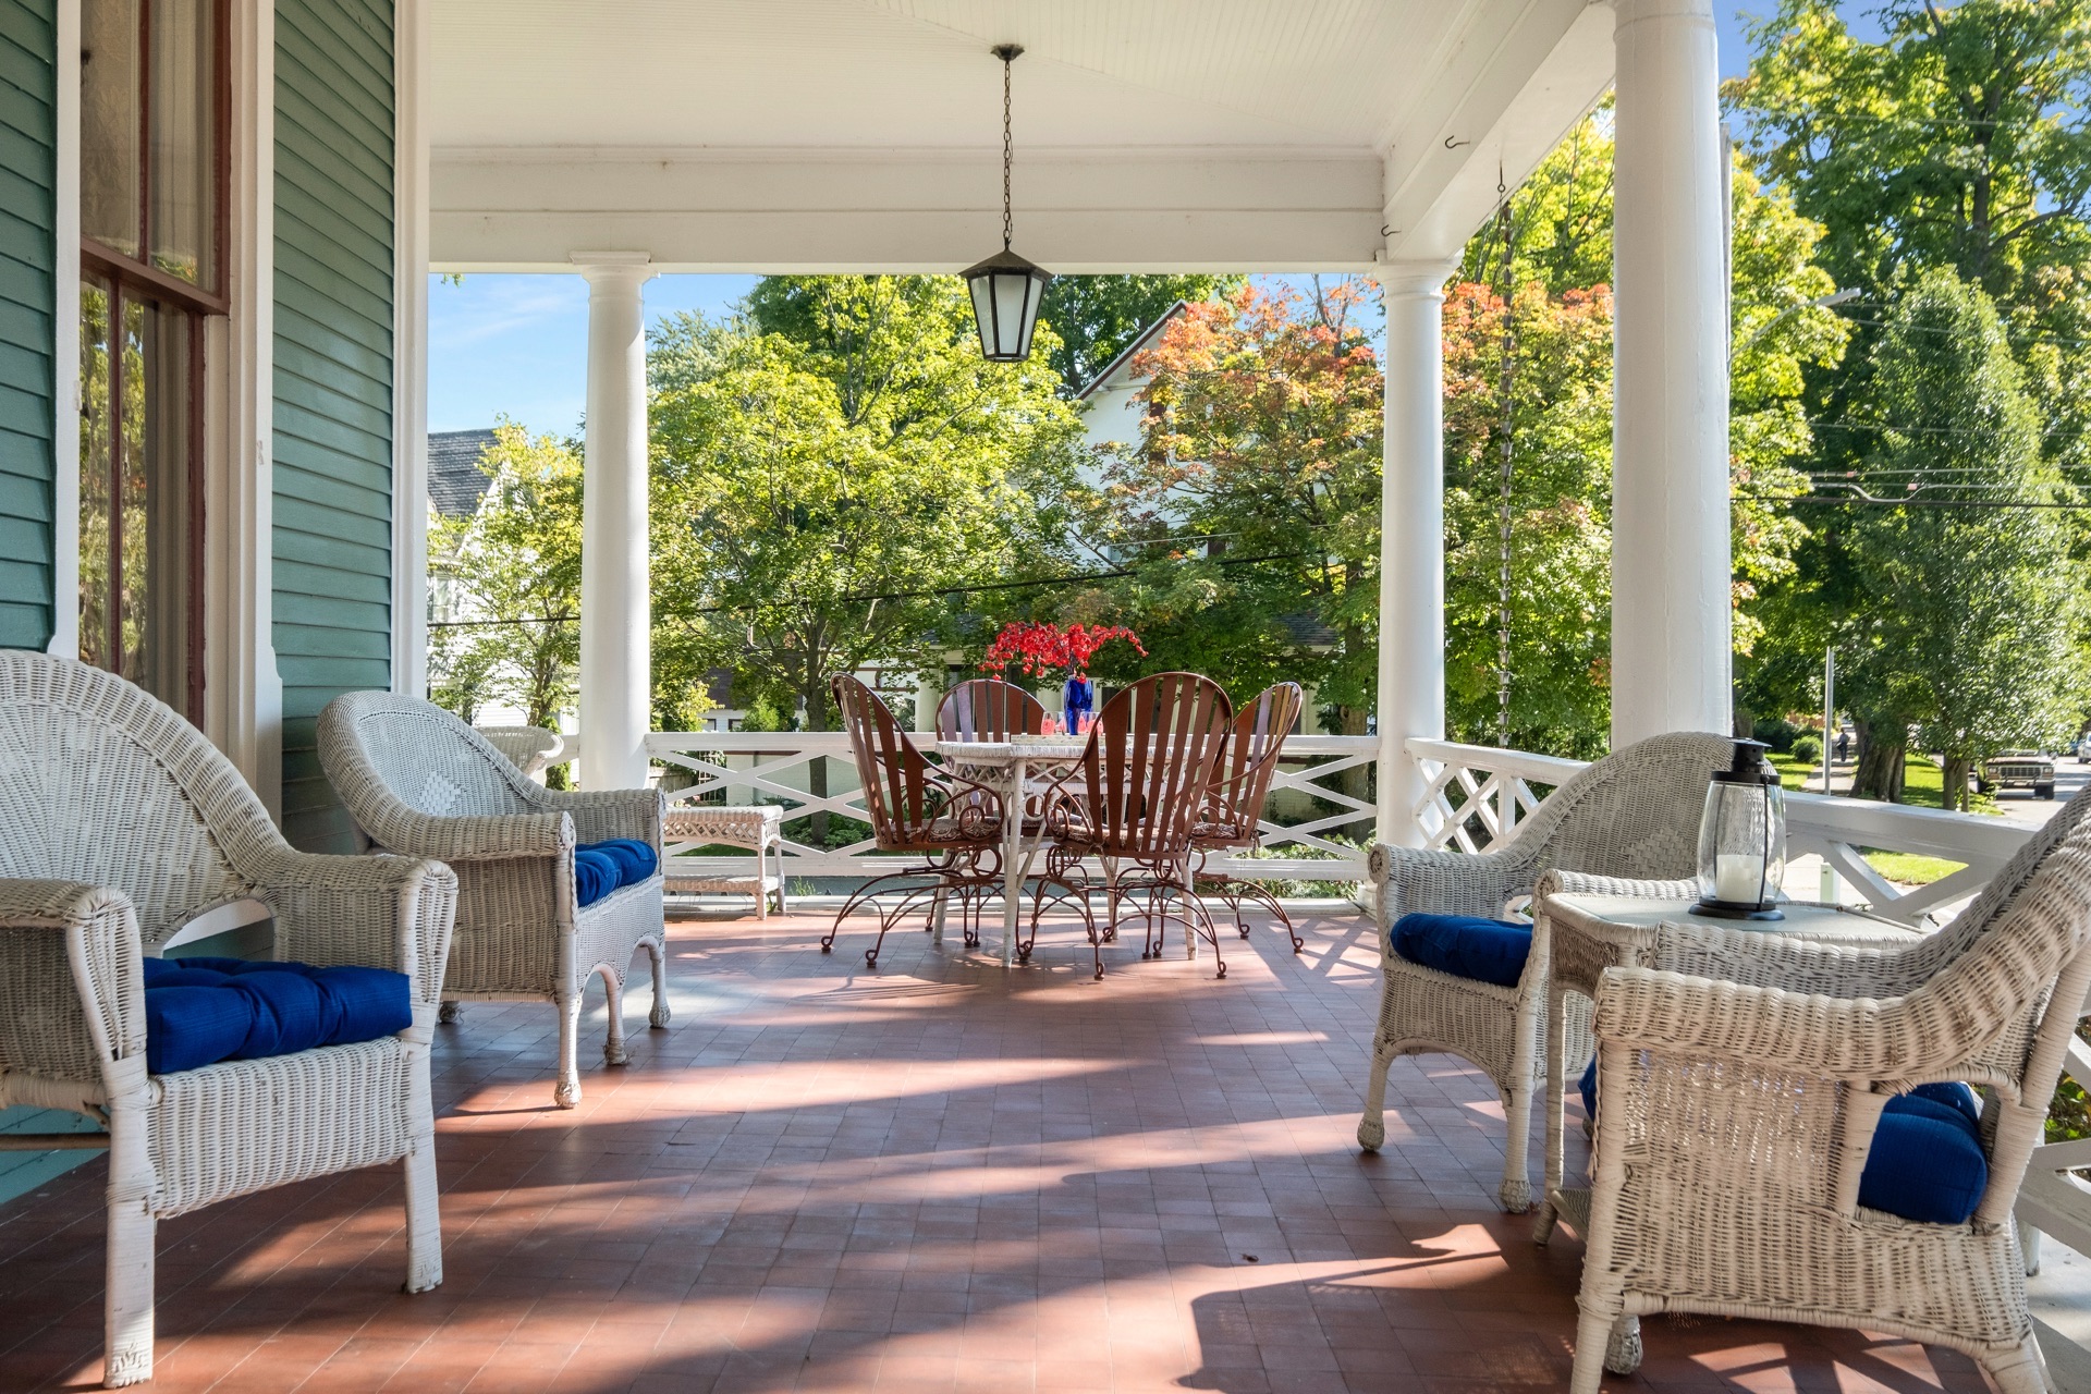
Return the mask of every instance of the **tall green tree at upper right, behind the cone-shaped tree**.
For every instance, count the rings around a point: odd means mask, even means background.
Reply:
[[[1828,230],[1821,265],[1865,293],[1851,309],[1853,351],[1807,370],[1817,433],[1807,464],[1836,481],[1878,454],[1892,420],[1876,401],[1876,341],[1901,291],[1943,265],[1995,303],[2037,405],[2041,456],[2081,470],[2091,464],[2091,4],[1888,0],[1876,19],[1884,40],[1863,42],[1830,0],[1786,0],[1752,33],[1750,75],[1727,88],[1761,167]],[[1809,704],[1821,644],[1876,604],[1846,545],[1857,512],[1802,504],[1796,516],[1811,537],[1767,596],[1782,642],[1740,671],[1756,700],[1788,708]],[[2078,562],[2091,552],[2085,525],[2066,514]],[[1867,700],[1882,706],[1855,711],[1857,786],[1897,798],[1913,698],[1876,686]]]

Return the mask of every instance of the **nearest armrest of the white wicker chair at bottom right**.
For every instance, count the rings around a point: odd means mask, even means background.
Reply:
[[[1903,997],[1788,993],[1656,968],[1606,968],[1591,1024],[1600,1041],[1627,1047],[1890,1087],[1943,1078],[1976,1045],[1924,1030]]]

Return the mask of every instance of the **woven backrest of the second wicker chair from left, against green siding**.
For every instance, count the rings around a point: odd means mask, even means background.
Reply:
[[[389,692],[351,696],[341,731],[376,784],[406,807],[431,817],[539,811],[523,771],[441,706]]]

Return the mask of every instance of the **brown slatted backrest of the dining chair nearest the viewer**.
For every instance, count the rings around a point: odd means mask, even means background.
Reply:
[[[1211,677],[1154,673],[1104,702],[1077,782],[1094,851],[1171,861],[1190,851],[1234,706]]]

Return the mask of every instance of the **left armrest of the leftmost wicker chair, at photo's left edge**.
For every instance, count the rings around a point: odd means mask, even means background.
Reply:
[[[102,1085],[107,1066],[142,1060],[142,959],[121,890],[0,878],[0,1068]]]

